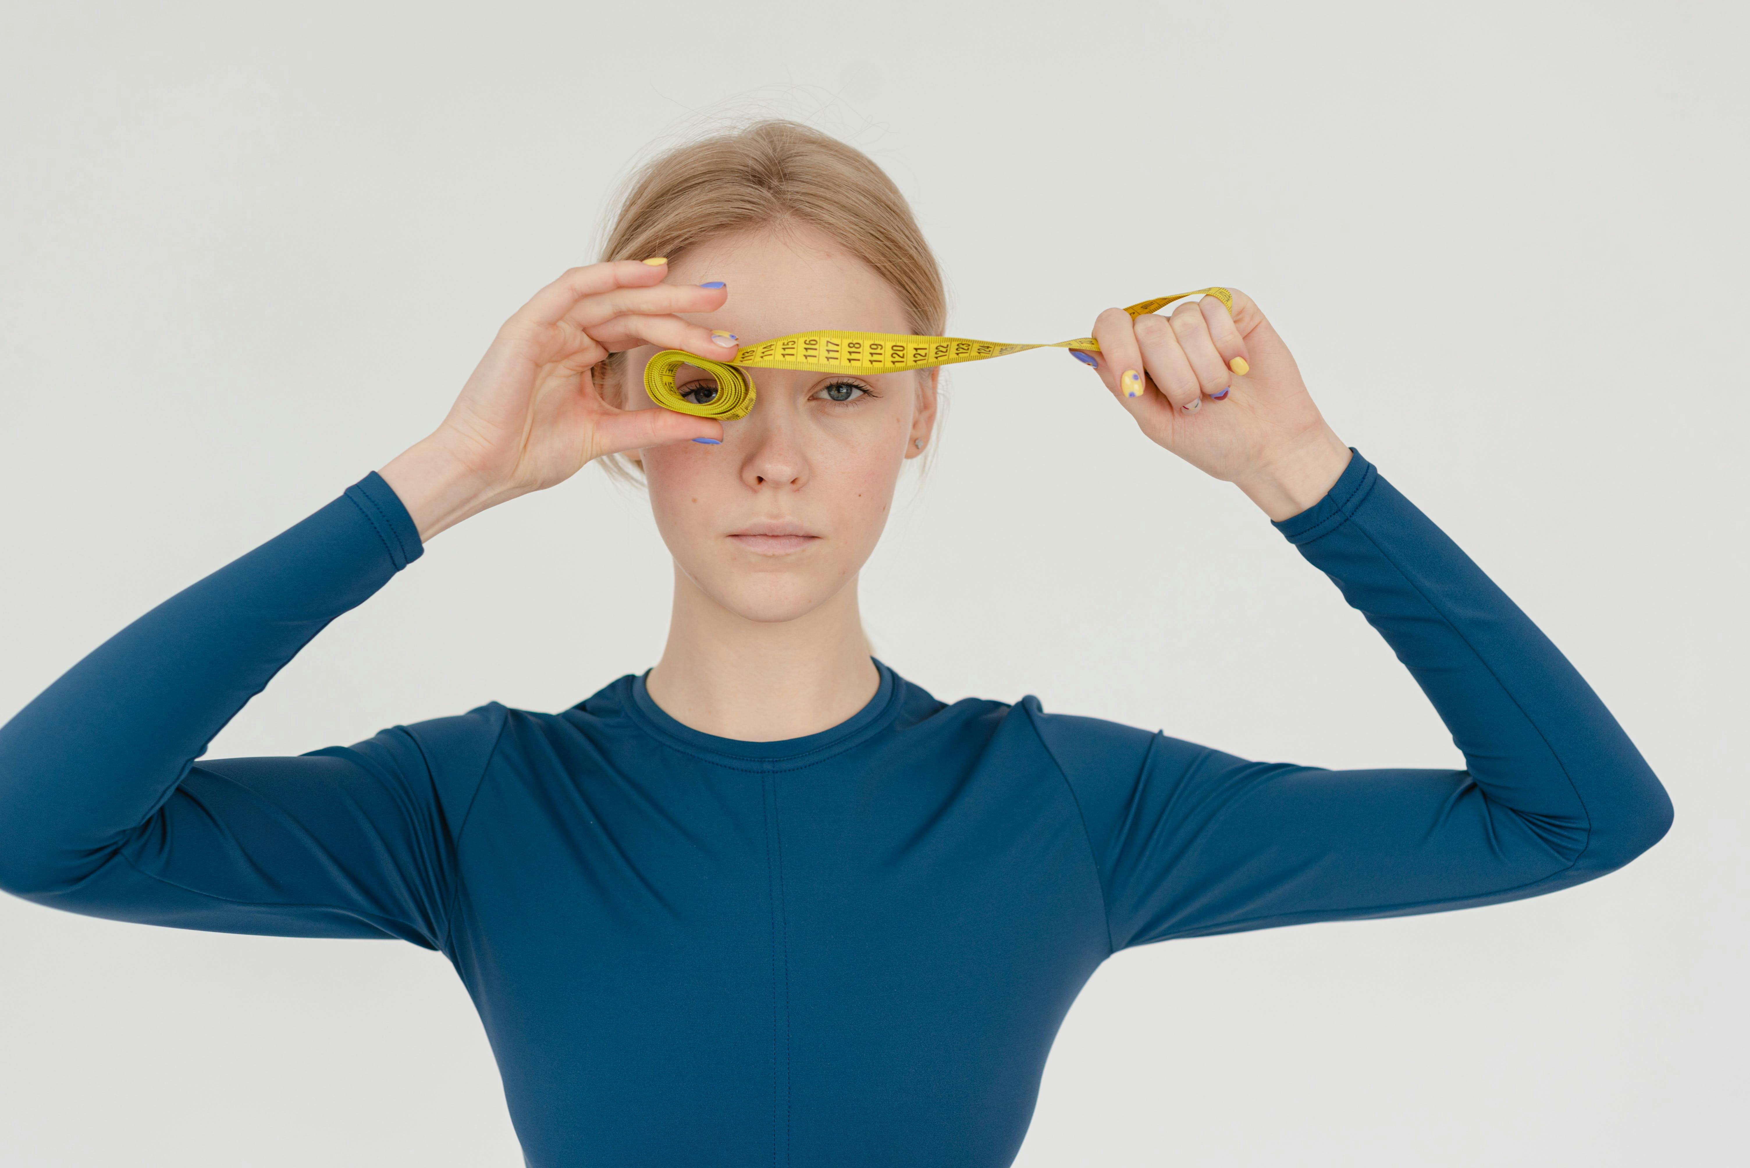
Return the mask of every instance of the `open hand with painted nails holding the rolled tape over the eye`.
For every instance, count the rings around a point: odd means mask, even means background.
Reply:
[[[378,474],[420,540],[467,516],[574,476],[623,449],[721,439],[723,423],[668,409],[616,409],[590,371],[609,353],[656,344],[735,353],[676,313],[723,308],[726,289],[663,283],[667,262],[572,268],[504,322],[443,423]]]

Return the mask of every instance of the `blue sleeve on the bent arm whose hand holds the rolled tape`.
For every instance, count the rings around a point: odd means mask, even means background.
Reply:
[[[0,727],[0,888],[91,916],[443,948],[502,706],[196,762],[329,621],[418,560],[371,472],[103,642]]]

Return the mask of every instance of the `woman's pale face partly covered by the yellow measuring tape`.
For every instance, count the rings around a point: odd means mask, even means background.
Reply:
[[[789,332],[910,332],[900,295],[828,236],[808,229],[712,240],[670,262],[668,282],[723,280],[730,299],[690,316],[754,344]],[[654,346],[626,353],[621,400],[644,393]],[[793,621],[835,596],[875,549],[900,469],[929,442],[934,371],[840,376],[752,369],[756,400],[723,423],[723,444],[635,451],[651,511],[682,577],[752,621]],[[712,385],[676,369],[676,386]]]

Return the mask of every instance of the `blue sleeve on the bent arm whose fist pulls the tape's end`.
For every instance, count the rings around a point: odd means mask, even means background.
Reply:
[[[1255,762],[1034,701],[1113,949],[1533,897],[1664,836],[1671,801],[1598,694],[1360,453],[1276,526],[1386,638],[1465,768]]]

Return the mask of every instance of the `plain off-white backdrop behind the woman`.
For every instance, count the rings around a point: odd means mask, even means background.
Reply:
[[[950,330],[1255,295],[1339,435],[1570,656],[1676,804],[1516,904],[1122,953],[1022,1168],[1715,1165],[1741,1151],[1743,7],[10,3],[0,717],[443,416],[723,117],[875,157]],[[1038,694],[1332,768],[1456,766],[1390,649],[1057,351],[948,371],[863,575],[943,701]],[[670,565],[590,467],[336,621],[212,755],[654,663]],[[0,1165],[520,1165],[443,956],[0,897]]]

